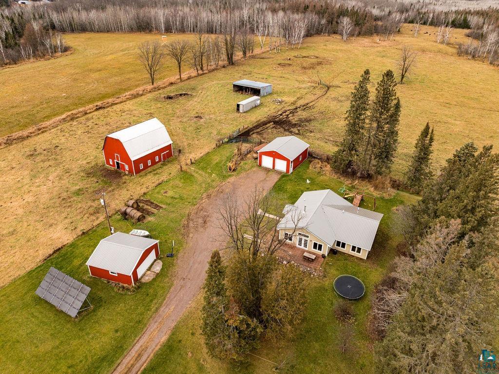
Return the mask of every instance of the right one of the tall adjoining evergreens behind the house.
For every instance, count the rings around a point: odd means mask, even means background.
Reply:
[[[392,70],[383,73],[376,86],[376,94],[371,105],[369,125],[364,136],[364,150],[359,168],[360,176],[390,170],[397,148],[400,101],[395,91],[395,76]],[[384,149],[387,147],[387,149]]]

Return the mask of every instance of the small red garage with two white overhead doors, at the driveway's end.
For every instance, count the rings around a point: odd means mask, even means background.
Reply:
[[[258,150],[258,165],[290,174],[307,159],[309,147],[296,136],[275,138]]]

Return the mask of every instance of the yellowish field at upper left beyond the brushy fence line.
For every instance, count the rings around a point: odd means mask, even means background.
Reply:
[[[67,55],[0,69],[0,137],[150,84],[137,48],[161,42],[161,34],[75,33],[64,39],[73,49]],[[175,61],[165,58],[158,81],[176,74]]]

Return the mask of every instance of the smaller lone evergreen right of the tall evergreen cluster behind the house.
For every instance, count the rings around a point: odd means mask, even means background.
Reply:
[[[411,163],[405,173],[405,183],[414,192],[421,192],[423,185],[432,177],[430,168],[430,157],[433,146],[433,128],[430,131],[430,123],[421,131],[414,146]]]

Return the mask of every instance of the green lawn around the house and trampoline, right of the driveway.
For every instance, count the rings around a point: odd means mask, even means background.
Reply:
[[[306,180],[310,183],[307,184]],[[331,189],[337,192],[343,182],[309,168],[303,163],[291,175],[282,175],[272,189],[272,193],[284,206],[294,203],[303,191]],[[284,373],[372,373],[373,342],[366,333],[366,323],[370,310],[369,299],[374,286],[386,273],[388,263],[395,256],[397,235],[391,230],[393,208],[400,204],[414,203],[416,198],[396,194],[392,198],[378,198],[376,211],[384,214],[375,244],[367,260],[338,253],[329,255],[323,262],[325,278],[311,279],[308,284],[309,304],[303,324],[297,328],[292,341],[279,345],[264,343],[253,352],[260,358],[251,356],[250,366],[241,373],[274,373],[275,364],[283,364]],[[367,202],[369,203],[369,202]],[[372,204],[372,202],[370,202]],[[365,205],[366,209],[369,207]],[[351,274],[361,279],[366,286],[366,295],[352,303],[355,313],[354,347],[348,353],[341,353],[338,346],[339,324],[333,312],[340,300],[333,289],[334,279],[341,274]],[[156,353],[145,374],[153,373],[233,373],[226,363],[212,359],[204,346],[201,335],[200,295],[191,309],[183,316],[164,346]],[[269,363],[263,359],[269,360]]]

